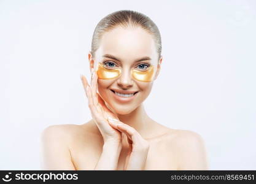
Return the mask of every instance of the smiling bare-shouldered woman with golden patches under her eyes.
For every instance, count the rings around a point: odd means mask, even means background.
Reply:
[[[142,102],[160,72],[161,37],[142,13],[120,10],[99,21],[81,76],[92,119],[42,132],[42,168],[53,170],[204,170],[201,136],[152,120]],[[161,105],[161,104],[158,104]]]

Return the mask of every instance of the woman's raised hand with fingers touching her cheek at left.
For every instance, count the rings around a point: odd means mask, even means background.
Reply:
[[[83,88],[86,92],[88,98],[88,106],[91,111],[91,116],[95,121],[96,125],[101,132],[104,139],[104,144],[110,143],[120,146],[122,144],[123,133],[109,125],[109,118],[114,118],[118,120],[117,115],[115,115],[107,106],[104,100],[97,93],[98,89],[98,76],[96,71],[92,69],[91,72],[91,85],[88,84],[87,79],[81,75]]]

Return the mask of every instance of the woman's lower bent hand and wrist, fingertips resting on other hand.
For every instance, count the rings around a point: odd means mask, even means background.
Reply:
[[[144,170],[147,153],[149,152],[149,142],[143,139],[136,129],[121,121],[109,118],[109,125],[118,129],[127,137],[129,149],[124,170]]]

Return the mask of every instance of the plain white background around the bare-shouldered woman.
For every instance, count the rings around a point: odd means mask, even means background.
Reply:
[[[160,29],[150,117],[205,142],[209,166],[256,169],[256,1],[0,1],[0,169],[40,169],[49,125],[90,120],[80,74],[101,18],[136,10]]]

